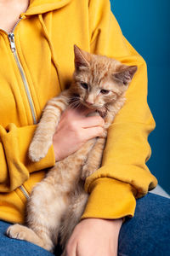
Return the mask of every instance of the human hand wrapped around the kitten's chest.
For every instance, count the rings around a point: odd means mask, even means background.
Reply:
[[[89,139],[103,134],[104,119],[100,116],[87,117],[88,112],[87,108],[68,108],[61,115],[53,138],[56,161],[73,154]]]

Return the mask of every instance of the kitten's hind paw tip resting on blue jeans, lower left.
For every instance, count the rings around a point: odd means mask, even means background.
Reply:
[[[26,230],[25,227],[20,224],[14,224],[8,227],[6,235],[10,238],[26,240]]]

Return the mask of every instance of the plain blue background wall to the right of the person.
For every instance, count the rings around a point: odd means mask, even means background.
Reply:
[[[170,193],[170,0],[111,0],[111,9],[148,65],[148,102],[156,120],[148,166]]]

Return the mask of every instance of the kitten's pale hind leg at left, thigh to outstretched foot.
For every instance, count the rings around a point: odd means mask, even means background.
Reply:
[[[54,190],[53,184],[42,181],[32,190],[28,202],[27,226],[9,226],[7,235],[37,244],[48,251],[54,249],[54,236],[58,236],[60,219],[65,212],[66,202]]]

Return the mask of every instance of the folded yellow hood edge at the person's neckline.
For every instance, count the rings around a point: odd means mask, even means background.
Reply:
[[[64,7],[71,0],[30,0],[30,5],[24,15],[40,15],[54,9]]]

